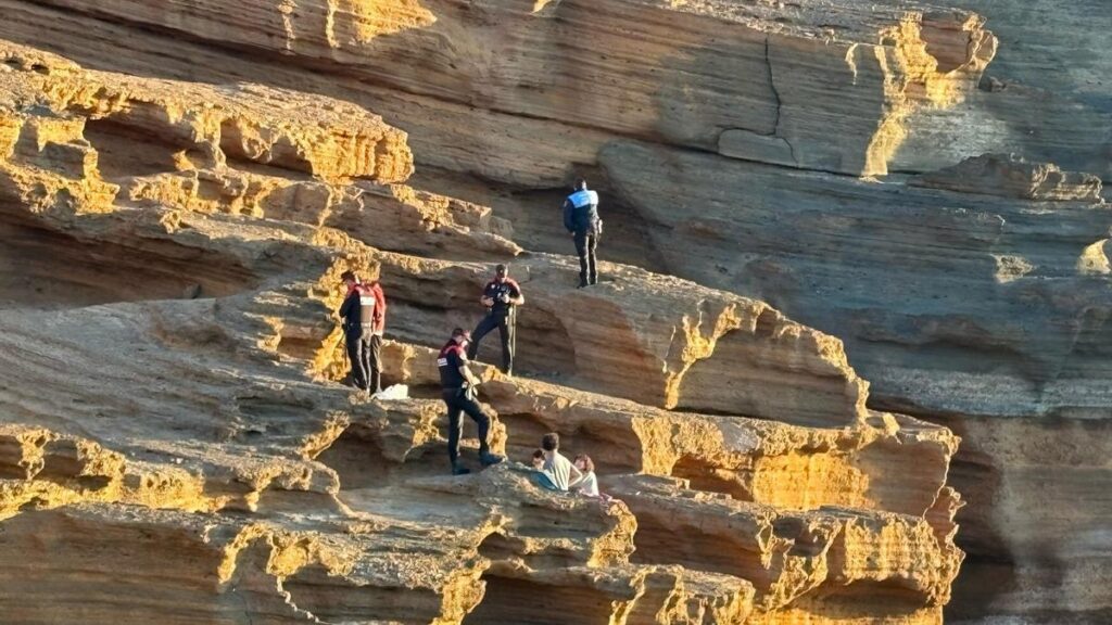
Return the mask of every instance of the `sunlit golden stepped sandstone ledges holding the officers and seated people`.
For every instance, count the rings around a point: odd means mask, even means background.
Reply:
[[[476,367],[510,462],[451,477],[433,349],[523,255],[509,225],[400,185],[404,135],[349,105],[0,50],[13,622],[941,619],[957,439],[868,410],[836,338],[616,264],[576,291],[568,258],[524,255],[525,375]],[[349,268],[386,285],[409,399],[335,381]],[[515,460],[548,430],[623,500],[539,488]]]

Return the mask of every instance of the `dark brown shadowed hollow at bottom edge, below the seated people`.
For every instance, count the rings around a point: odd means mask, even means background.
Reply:
[[[548,586],[527,579],[484,575],[483,602],[464,625],[609,623],[614,605],[589,586]]]

